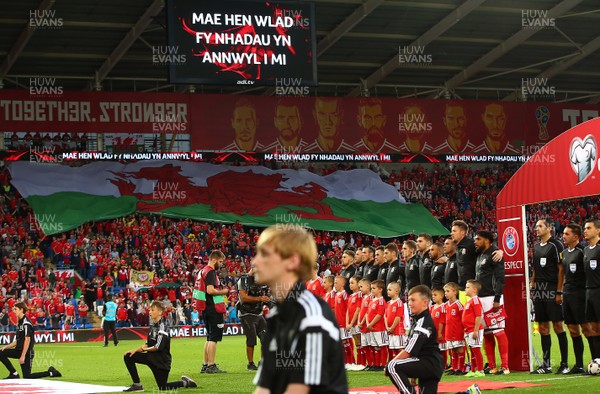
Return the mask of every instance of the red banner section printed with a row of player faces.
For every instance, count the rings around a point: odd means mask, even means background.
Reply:
[[[535,153],[598,106],[349,97],[192,97],[192,147],[257,152]],[[195,123],[194,123],[195,124]]]

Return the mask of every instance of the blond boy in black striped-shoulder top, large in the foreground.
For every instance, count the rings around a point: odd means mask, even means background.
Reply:
[[[271,226],[258,239],[256,282],[271,288],[277,304],[267,316],[256,394],[348,392],[336,319],[304,286],[316,259],[314,239],[299,226]]]

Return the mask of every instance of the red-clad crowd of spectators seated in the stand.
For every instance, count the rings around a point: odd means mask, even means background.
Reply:
[[[326,175],[350,168],[326,166],[309,170]],[[496,195],[516,168],[428,165],[375,170],[407,200],[425,205],[446,228],[452,220],[462,219],[472,231],[495,232]],[[220,249],[227,257],[219,275],[230,289],[228,321],[238,321],[236,282],[249,268],[260,229],[240,223],[132,214],[46,237],[27,203],[10,184],[6,169],[0,171],[0,184],[1,330],[14,329],[12,306],[19,298],[31,306],[30,319],[38,329],[90,327],[88,313],[101,312],[103,299],[109,293],[119,296],[118,326],[148,325],[150,302],[157,299],[166,307],[169,324],[200,324],[191,303],[193,278],[214,249]],[[419,193],[410,193],[414,190]],[[560,234],[571,221],[581,223],[585,218],[598,217],[598,209],[597,198],[532,206],[530,230],[538,218],[550,217]],[[530,231],[530,241],[534,234]],[[339,273],[342,251],[348,246],[377,247],[404,240],[327,231],[315,231],[314,235],[324,276]],[[83,282],[79,284],[72,276],[65,276],[63,269],[73,269]],[[130,269],[153,272],[152,286],[134,291]]]

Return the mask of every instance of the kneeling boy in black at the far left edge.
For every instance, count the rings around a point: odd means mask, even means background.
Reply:
[[[33,351],[33,345],[35,339],[33,336],[33,324],[29,321],[25,313],[27,312],[27,305],[24,302],[18,302],[13,306],[19,322],[17,324],[17,336],[15,340],[4,346],[0,350],[0,362],[8,369],[9,375],[6,379],[19,379],[19,374],[15,367],[13,367],[9,358],[16,358],[21,364],[21,371],[23,372],[23,378],[25,379],[39,379],[45,377],[58,378],[62,375],[54,367],[49,367],[48,371],[45,372],[31,372],[31,364],[33,363],[33,357],[35,352]]]

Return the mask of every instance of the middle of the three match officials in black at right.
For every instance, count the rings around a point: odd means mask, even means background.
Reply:
[[[590,349],[593,347],[594,337],[592,325],[585,318],[585,268],[583,266],[583,247],[579,244],[581,226],[567,224],[563,230],[563,242],[567,246],[562,252],[562,264],[565,273],[565,286],[563,288],[562,310],[565,324],[571,334],[575,365],[569,374],[584,373],[583,369],[583,339],[581,329],[588,339]]]

